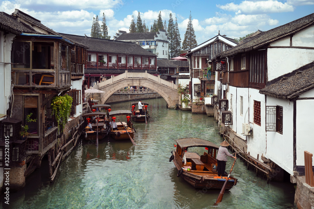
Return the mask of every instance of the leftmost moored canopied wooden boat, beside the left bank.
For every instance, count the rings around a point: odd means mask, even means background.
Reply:
[[[106,124],[106,116],[107,114],[105,112],[89,112],[85,113],[83,117],[87,121],[87,118],[89,118],[90,123],[92,125],[92,128],[94,131],[89,131],[89,127],[87,126],[87,123],[85,125],[85,140],[96,140],[97,138],[97,132],[98,132],[98,139],[105,138],[109,133],[109,126]],[[94,120],[94,118],[98,118]]]

